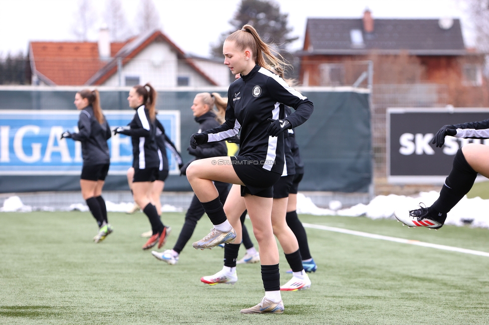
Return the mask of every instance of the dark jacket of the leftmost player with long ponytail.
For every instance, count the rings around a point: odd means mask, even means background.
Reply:
[[[78,118],[78,133],[72,133],[72,138],[82,142],[82,156],[84,165],[110,163],[109,146],[110,126],[104,116],[102,124],[93,113],[93,107],[83,108]]]

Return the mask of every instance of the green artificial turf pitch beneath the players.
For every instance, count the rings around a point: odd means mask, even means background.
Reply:
[[[402,227],[394,220],[301,215],[347,229],[489,251],[489,230]],[[259,264],[238,265],[235,285],[199,281],[222,267],[222,248],[187,244],[176,265],[143,251],[142,213],[110,213],[115,231],[93,243],[88,212],[0,213],[1,324],[487,324],[489,257],[307,229],[318,270],[309,290],[283,292],[284,314],[239,310],[264,295]],[[183,213],[164,213],[173,228]],[[247,220],[251,230],[250,221]],[[206,216],[190,241],[204,236]],[[239,257],[244,254],[241,248]],[[290,275],[281,252],[281,283]]]

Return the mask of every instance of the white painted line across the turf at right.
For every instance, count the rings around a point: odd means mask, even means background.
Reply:
[[[412,240],[412,239],[404,239],[404,238],[390,237],[390,236],[384,236],[384,235],[381,235],[381,234],[368,233],[368,232],[356,231],[356,230],[349,230],[349,229],[337,228],[337,227],[330,227],[330,226],[327,226],[327,225],[319,225],[319,224],[304,223],[304,222],[302,224],[305,227],[307,227],[307,228],[321,229],[321,230],[334,231],[334,232],[341,232],[341,233],[353,234],[355,236],[362,236],[362,237],[367,237],[367,238],[374,238],[374,239],[382,239],[382,240],[388,240],[388,241],[395,241],[395,242],[406,243],[406,244],[410,244],[410,245],[417,245],[417,246],[430,247],[430,248],[436,248],[436,249],[457,251],[457,252],[465,253],[465,254],[472,254],[472,255],[479,255],[479,256],[489,257],[489,252],[480,251],[480,250],[473,250],[473,249],[466,249],[466,248],[460,248],[460,247],[438,245],[438,244],[433,244],[433,243],[419,241],[419,240]]]

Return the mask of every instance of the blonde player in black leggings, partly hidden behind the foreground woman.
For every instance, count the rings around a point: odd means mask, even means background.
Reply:
[[[226,100],[222,98],[217,92],[212,94],[208,92],[201,92],[195,95],[192,104],[193,116],[195,116],[195,121],[199,123],[198,132],[214,128],[219,126],[224,121],[224,111],[226,109]],[[217,108],[217,112],[214,112],[214,105]],[[199,145],[196,148],[189,146],[187,148],[188,152],[195,156],[195,159],[202,159],[208,157],[223,156],[227,154],[227,147],[224,141],[209,142]],[[191,160],[193,161],[193,160]],[[188,164],[182,166],[180,169],[182,175],[185,175],[185,169]],[[224,204],[226,200],[227,193],[229,192],[229,184],[221,181],[214,182],[215,188],[219,194],[219,200]],[[178,236],[173,249],[166,249],[163,252],[151,251],[151,253],[159,260],[165,261],[168,264],[176,264],[178,262],[180,252],[187,243],[188,239],[193,234],[193,230],[197,225],[197,221],[200,220],[204,214],[204,208],[195,194],[192,197],[190,206],[185,213],[185,223],[182,226],[180,235]]]

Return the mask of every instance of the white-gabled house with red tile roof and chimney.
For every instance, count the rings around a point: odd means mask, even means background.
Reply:
[[[44,85],[228,86],[231,77],[222,61],[203,65],[160,30],[124,42],[109,42],[107,29],[98,42],[31,41],[29,63],[32,84]]]

